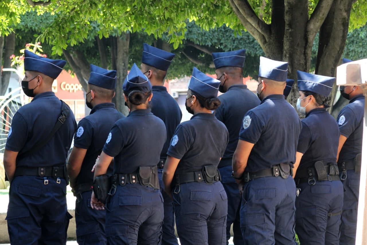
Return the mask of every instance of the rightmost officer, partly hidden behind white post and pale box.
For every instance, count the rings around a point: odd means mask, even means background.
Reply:
[[[351,60],[343,59],[343,63]],[[338,167],[344,185],[342,226],[339,244],[355,244],[363,136],[364,96],[360,86],[340,86],[350,100],[339,113]]]

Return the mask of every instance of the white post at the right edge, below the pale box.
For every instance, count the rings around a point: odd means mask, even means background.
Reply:
[[[367,97],[367,85],[361,85]],[[367,244],[367,100],[364,102],[361,181],[359,187],[356,245]]]

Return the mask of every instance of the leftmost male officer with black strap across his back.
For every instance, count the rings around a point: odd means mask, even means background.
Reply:
[[[66,244],[66,156],[76,130],[70,108],[52,92],[66,61],[24,52],[22,89],[34,97],[15,113],[4,152],[11,182],[7,212],[11,244]]]

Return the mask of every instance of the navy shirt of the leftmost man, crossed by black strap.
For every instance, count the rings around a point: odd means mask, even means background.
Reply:
[[[5,146],[7,150],[19,152],[17,167],[64,166],[76,130],[72,111],[43,148],[32,155],[21,156],[48,138],[60,115],[61,100],[54,92],[38,94],[29,104],[19,108],[13,117]]]

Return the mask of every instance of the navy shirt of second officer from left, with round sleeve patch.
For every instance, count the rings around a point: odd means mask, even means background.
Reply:
[[[74,135],[74,146],[87,149],[77,184],[93,182],[94,173],[91,172],[97,156],[101,155],[107,136],[117,120],[125,117],[115,109],[113,103],[101,103],[93,107],[90,114],[78,123]],[[112,166],[110,166],[112,173]]]

